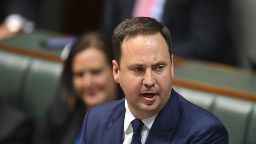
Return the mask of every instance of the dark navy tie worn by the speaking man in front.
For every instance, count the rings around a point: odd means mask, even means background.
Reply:
[[[144,125],[141,120],[134,119],[132,122],[132,128],[134,132],[132,133],[132,142],[131,144],[141,144],[141,127]]]

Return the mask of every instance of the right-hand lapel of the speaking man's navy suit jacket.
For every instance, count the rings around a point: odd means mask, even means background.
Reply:
[[[178,111],[178,97],[172,89],[171,96],[156,117],[145,144],[170,144],[176,126],[176,114]]]

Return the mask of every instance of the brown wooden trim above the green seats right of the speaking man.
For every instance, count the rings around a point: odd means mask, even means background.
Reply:
[[[182,79],[182,78],[174,78],[173,85],[178,85],[181,87],[187,87],[191,89],[203,90],[203,91],[217,93],[217,94],[223,94],[230,97],[242,98],[245,100],[252,100],[256,102],[256,93],[253,93],[253,92],[231,89],[228,87],[217,86],[209,83],[202,83],[202,82]]]

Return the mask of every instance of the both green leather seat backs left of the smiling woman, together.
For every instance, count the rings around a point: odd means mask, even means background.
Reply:
[[[27,111],[35,123],[61,98],[62,63],[0,50],[0,95]]]

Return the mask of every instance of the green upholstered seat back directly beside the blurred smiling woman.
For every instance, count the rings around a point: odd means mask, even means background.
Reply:
[[[62,64],[33,59],[24,82],[22,106],[38,122],[48,105],[60,98]]]

